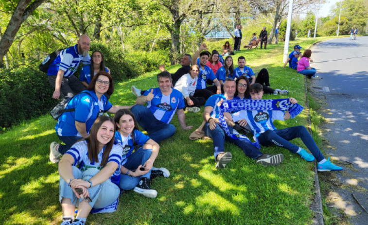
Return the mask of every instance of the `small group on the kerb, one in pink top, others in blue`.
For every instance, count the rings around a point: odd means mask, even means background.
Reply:
[[[313,62],[313,59],[311,59],[312,56],[312,50],[307,49],[304,51],[304,53],[301,55],[300,45],[294,46],[294,51],[290,52],[285,64],[289,63],[289,68],[296,69],[298,73],[303,74],[307,76],[310,79],[321,79],[319,76],[316,75],[315,68],[310,67],[309,62]],[[300,57],[300,60],[298,58]]]

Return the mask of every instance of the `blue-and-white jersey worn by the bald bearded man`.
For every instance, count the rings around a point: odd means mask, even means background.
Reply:
[[[73,47],[64,49],[56,56],[47,70],[47,75],[56,75],[59,69],[62,69],[64,70],[64,77],[70,77],[77,71],[80,62],[88,65],[91,63],[91,57],[89,57],[89,55],[80,55],[77,50],[77,45],[74,45]]]

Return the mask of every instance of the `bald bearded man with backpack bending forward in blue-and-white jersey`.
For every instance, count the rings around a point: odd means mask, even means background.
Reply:
[[[77,44],[61,51],[47,70],[50,84],[55,89],[53,98],[71,98],[84,90],[83,84],[73,74],[79,63],[90,64],[88,55],[91,40],[87,35],[80,35]]]

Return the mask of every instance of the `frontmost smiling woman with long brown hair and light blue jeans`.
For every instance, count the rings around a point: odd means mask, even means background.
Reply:
[[[122,149],[114,145],[114,134],[114,121],[101,116],[93,123],[90,135],[75,143],[60,160],[61,225],[84,225],[92,208],[105,208],[119,198]]]

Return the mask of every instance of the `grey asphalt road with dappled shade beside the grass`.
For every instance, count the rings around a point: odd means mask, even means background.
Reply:
[[[326,103],[324,136],[331,145],[326,151],[344,168],[332,172],[341,181],[331,190],[333,207],[343,210],[351,224],[367,225],[368,213],[357,202],[368,210],[368,37],[320,42],[311,58],[322,78],[310,86]]]

